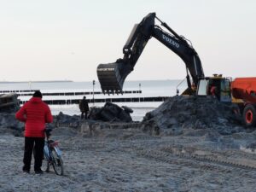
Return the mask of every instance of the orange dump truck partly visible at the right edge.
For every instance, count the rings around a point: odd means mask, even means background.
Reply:
[[[231,82],[232,102],[241,111],[244,124],[256,125],[256,78],[236,78]]]

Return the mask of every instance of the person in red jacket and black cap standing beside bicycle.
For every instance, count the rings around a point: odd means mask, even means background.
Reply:
[[[45,123],[51,123],[53,121],[48,105],[42,101],[42,93],[36,90],[32,98],[20,108],[15,117],[25,122],[23,172],[30,172],[34,148],[34,171],[37,174],[42,174],[41,166],[44,158]]]

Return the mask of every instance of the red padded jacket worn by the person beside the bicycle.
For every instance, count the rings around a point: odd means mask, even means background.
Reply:
[[[48,105],[40,97],[32,97],[15,117],[26,123],[25,137],[44,137],[45,123],[53,121]]]

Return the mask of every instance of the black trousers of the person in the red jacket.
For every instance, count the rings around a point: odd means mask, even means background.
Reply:
[[[34,170],[41,170],[44,158],[44,138],[43,137],[25,137],[25,149],[23,158],[23,170],[30,171],[32,153],[34,154]]]

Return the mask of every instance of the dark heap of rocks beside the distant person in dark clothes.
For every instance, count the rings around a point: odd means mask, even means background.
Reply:
[[[91,108],[89,118],[109,122],[131,122],[131,109],[120,108],[112,102],[106,102],[102,108]]]

